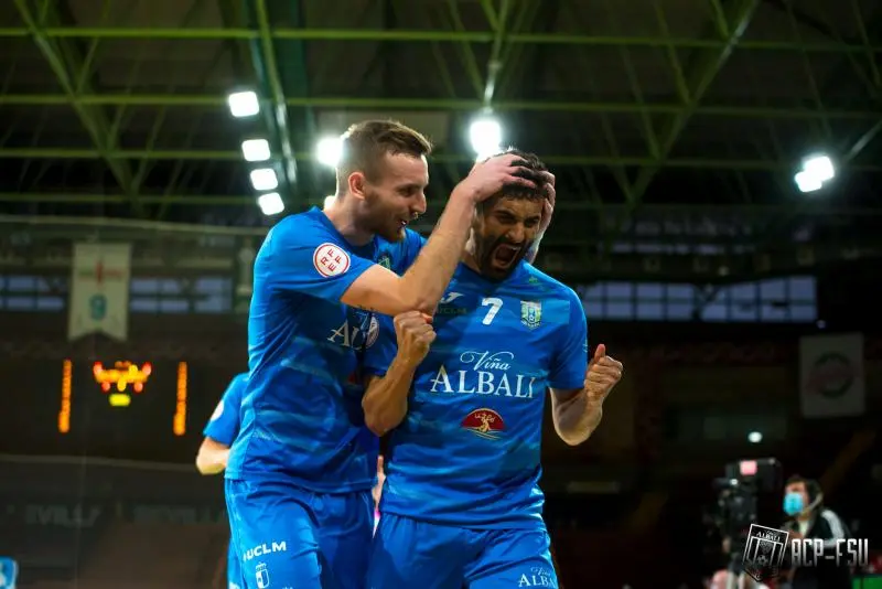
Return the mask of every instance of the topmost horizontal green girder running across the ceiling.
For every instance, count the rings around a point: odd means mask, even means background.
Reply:
[[[125,26],[53,26],[44,31],[51,38],[106,38],[106,39],[169,39],[169,40],[229,40],[259,39],[260,32],[251,29],[216,28],[125,28]],[[366,30],[366,29],[273,29],[272,39],[301,41],[412,41],[412,42],[467,42],[491,44],[495,31],[419,31],[419,30]],[[29,36],[25,28],[0,28],[0,38]],[[580,35],[568,33],[512,33],[506,43],[546,45],[633,45],[666,49],[719,49],[725,46],[720,39],[688,39],[664,36],[615,36]],[[745,40],[739,43],[740,50],[749,51],[806,51],[809,53],[872,53],[882,52],[882,45],[861,43]]]

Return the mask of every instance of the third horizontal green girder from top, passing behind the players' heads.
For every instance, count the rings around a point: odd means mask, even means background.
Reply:
[[[315,154],[310,151],[295,152],[298,160],[314,161]],[[110,160],[201,160],[201,161],[241,161],[239,151],[222,150],[112,150],[101,152],[94,149],[69,149],[69,148],[0,148],[0,160],[2,159],[55,159],[55,160],[89,160],[89,159],[110,159]],[[653,158],[628,158],[628,157],[593,157],[593,156],[542,156],[542,161],[549,165],[628,165],[647,167],[654,165],[656,160]],[[474,156],[470,153],[435,153],[432,156],[432,163],[474,163]],[[755,159],[699,159],[699,158],[673,158],[665,160],[666,168],[692,168],[710,170],[792,170],[795,163],[792,161],[755,160]],[[864,172],[882,172],[882,162],[875,164],[852,164],[851,170]]]

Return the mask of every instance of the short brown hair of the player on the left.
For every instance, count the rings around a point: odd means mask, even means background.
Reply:
[[[346,191],[349,174],[362,172],[373,181],[381,173],[383,158],[404,153],[419,158],[432,152],[432,143],[419,131],[396,120],[365,120],[343,133],[337,163],[337,195]]]

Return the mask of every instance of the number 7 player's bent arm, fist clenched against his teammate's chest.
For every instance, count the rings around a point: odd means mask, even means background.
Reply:
[[[395,318],[395,334],[383,320],[374,345],[365,352],[368,377],[362,408],[365,424],[377,436],[384,436],[401,422],[407,414],[407,398],[417,366],[429,353],[435,333],[431,318],[409,311]]]

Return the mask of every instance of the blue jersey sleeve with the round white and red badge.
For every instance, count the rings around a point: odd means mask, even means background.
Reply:
[[[267,240],[268,255],[255,278],[260,274],[267,287],[278,290],[338,301],[374,265],[352,254],[340,236],[309,221],[277,225]]]

